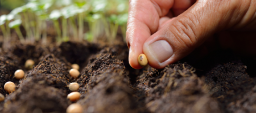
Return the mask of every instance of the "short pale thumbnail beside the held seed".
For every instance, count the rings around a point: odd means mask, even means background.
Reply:
[[[154,43],[149,45],[150,53],[152,53],[159,63],[162,63],[169,59],[174,51],[170,44],[165,40],[155,41]]]

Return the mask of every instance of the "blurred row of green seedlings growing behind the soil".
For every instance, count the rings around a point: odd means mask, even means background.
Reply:
[[[25,42],[40,41],[47,44],[47,29],[55,29],[57,42],[97,41],[106,37],[113,42],[121,31],[125,38],[128,0],[30,0],[1,16],[0,27],[5,39],[10,38],[10,28],[15,29],[19,40]],[[16,17],[16,19],[14,19]],[[13,27],[13,21],[20,22],[26,36],[20,32],[20,25]],[[52,24],[51,24],[52,23]],[[89,31],[85,28],[89,28]],[[119,30],[118,30],[119,29]]]

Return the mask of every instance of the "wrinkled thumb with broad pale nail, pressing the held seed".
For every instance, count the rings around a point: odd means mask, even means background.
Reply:
[[[148,64],[164,68],[184,58],[214,32],[236,26],[248,5],[245,1],[197,1],[144,42]]]

